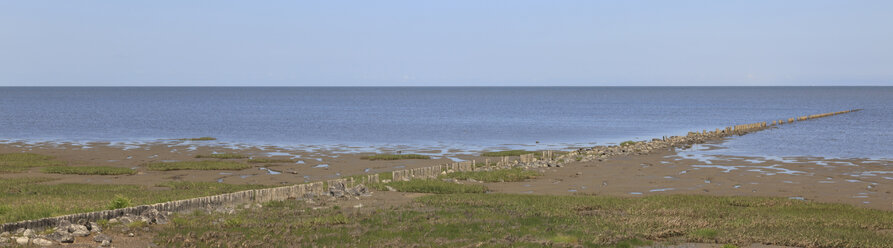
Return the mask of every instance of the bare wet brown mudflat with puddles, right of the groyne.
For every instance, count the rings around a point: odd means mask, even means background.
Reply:
[[[701,149],[711,147],[719,146]],[[891,161],[780,160],[664,151],[544,168],[544,175],[536,179],[487,186],[495,192],[521,194],[772,196],[893,210]]]

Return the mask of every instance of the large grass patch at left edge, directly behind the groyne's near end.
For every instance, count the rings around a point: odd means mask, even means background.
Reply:
[[[155,187],[119,184],[45,184],[53,180],[0,179],[0,223],[269,187],[216,182],[167,182]]]

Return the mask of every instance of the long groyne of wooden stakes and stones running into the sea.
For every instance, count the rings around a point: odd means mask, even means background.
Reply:
[[[14,232],[17,229],[44,229],[52,228],[62,223],[87,223],[98,220],[108,220],[122,216],[146,216],[153,212],[189,212],[194,210],[219,209],[221,207],[239,206],[242,204],[255,204],[268,201],[286,199],[306,199],[313,197],[344,197],[350,195],[362,195],[366,193],[364,184],[380,183],[388,181],[408,181],[412,179],[431,179],[450,172],[463,171],[489,171],[506,168],[536,168],[536,167],[560,167],[574,161],[590,161],[605,159],[620,155],[647,154],[657,150],[671,149],[675,147],[685,148],[693,144],[704,143],[709,140],[724,138],[732,135],[744,135],[777,125],[786,125],[798,121],[845,114],[860,109],[829,112],[814,115],[797,116],[788,119],[773,120],[771,122],[757,122],[729,126],[722,129],[702,130],[689,132],[686,136],[664,136],[651,141],[639,141],[633,143],[624,142],[621,145],[595,146],[582,148],[566,153],[554,151],[540,151],[522,154],[515,157],[500,157],[498,159],[485,159],[483,161],[465,161],[444,165],[435,165],[422,168],[413,168],[390,172],[390,178],[381,178],[380,174],[360,175],[343,179],[334,179],[323,182],[297,184],[276,188],[245,190],[221,195],[198,197],[185,200],[142,205],[115,210],[104,210],[89,213],[70,214],[57,217],[49,217],[37,220],[26,220],[0,225],[0,232]],[[517,158],[517,159],[516,159]]]

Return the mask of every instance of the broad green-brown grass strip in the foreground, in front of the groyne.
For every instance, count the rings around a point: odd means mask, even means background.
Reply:
[[[155,241],[167,247],[893,244],[893,212],[782,198],[434,194],[367,211],[311,209],[300,201],[265,205],[230,215],[176,216],[173,225],[161,226]]]

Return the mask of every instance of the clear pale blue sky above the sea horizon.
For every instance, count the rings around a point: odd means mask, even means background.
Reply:
[[[0,86],[893,85],[893,1],[0,1]]]

